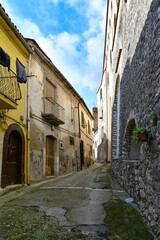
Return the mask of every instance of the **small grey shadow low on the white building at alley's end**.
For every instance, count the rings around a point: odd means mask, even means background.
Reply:
[[[106,134],[102,138],[102,142],[97,147],[97,162],[107,162],[108,161],[108,140]]]

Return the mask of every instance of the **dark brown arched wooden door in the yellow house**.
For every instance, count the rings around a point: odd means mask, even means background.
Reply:
[[[22,129],[11,124],[4,135],[2,188],[24,182],[24,146]]]

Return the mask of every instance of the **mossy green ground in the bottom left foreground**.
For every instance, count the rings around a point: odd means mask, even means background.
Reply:
[[[0,214],[0,237],[5,240],[77,240],[81,233],[69,232],[53,224],[54,218],[36,207],[3,209]]]

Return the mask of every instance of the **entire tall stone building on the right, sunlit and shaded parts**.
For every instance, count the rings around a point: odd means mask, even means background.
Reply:
[[[160,239],[159,0],[108,0],[101,88],[107,160]],[[134,128],[152,139],[133,142]]]

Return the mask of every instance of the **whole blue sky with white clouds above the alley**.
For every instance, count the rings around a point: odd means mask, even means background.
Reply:
[[[33,38],[82,96],[97,105],[107,0],[1,0],[24,37]]]

